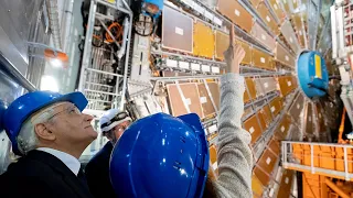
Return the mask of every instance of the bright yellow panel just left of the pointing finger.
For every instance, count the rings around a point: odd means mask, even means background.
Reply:
[[[194,24],[194,55],[212,58],[214,54],[214,34],[210,26],[197,21]]]

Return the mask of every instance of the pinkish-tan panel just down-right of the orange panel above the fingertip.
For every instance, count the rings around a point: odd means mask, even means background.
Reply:
[[[276,40],[269,35],[257,22],[254,23],[252,35],[265,45],[270,52],[276,50]]]

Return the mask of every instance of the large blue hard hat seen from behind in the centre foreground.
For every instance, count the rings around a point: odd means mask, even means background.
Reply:
[[[132,123],[110,156],[110,180],[121,197],[203,196],[208,146],[195,113],[153,114]]]

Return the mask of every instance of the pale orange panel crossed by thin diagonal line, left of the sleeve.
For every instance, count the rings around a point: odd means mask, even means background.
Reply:
[[[189,106],[190,112],[199,114],[200,118],[204,118],[200,95],[196,84],[180,84],[181,92],[186,99],[185,105]],[[189,113],[185,109],[182,97],[178,90],[176,85],[167,85],[167,91],[169,95],[169,101],[171,105],[172,114],[179,117]]]

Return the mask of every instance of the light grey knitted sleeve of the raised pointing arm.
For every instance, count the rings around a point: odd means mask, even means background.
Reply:
[[[221,112],[218,120],[218,197],[253,197],[253,155],[250,134],[242,129],[244,113],[244,77],[226,74],[221,77]]]

